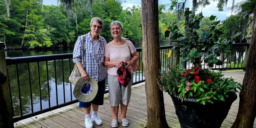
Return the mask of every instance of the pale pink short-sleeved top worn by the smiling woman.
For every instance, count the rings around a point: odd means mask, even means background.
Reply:
[[[130,48],[129,48],[129,46]],[[131,54],[136,52],[136,49],[133,43],[130,40],[126,40],[126,43],[123,45],[114,45],[111,42],[107,43],[105,47],[105,57],[108,57],[110,61],[123,61],[127,62],[131,60]],[[131,68],[131,72],[133,68]],[[117,67],[111,67],[107,69],[109,75],[117,75]]]

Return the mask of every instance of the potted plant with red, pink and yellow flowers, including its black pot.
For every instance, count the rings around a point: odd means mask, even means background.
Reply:
[[[220,21],[213,22],[207,40],[199,40],[197,30],[200,29],[200,21],[203,16],[196,17],[191,11],[186,11],[189,20],[185,27],[186,35],[181,34],[179,28],[165,28],[165,36],[171,33],[172,40],[177,44],[172,48],[176,50],[176,56],[182,56],[182,61],[190,61],[193,67],[181,69],[181,66],[173,68],[167,65],[158,77],[160,90],[170,94],[181,128],[214,127],[221,126],[237,95],[235,92],[242,85],[233,78],[223,78],[222,72],[214,72],[210,69],[202,69],[202,65],[209,67],[221,65],[218,59],[221,53],[227,53],[231,49],[234,37],[222,38],[223,34],[217,29]],[[211,16],[210,20],[216,17]],[[170,30],[168,30],[170,29]],[[171,56],[171,51],[166,53]],[[216,118],[217,117],[217,118]]]

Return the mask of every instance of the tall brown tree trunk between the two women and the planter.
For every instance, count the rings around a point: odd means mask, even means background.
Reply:
[[[142,62],[145,71],[147,98],[147,128],[168,127],[165,118],[163,92],[157,85],[160,64],[158,0],[141,1]]]

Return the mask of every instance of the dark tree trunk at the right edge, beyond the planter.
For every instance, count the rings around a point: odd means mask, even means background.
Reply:
[[[239,94],[238,114],[232,128],[252,128],[256,116],[256,5],[254,8],[254,23],[251,36],[251,44],[243,87]]]

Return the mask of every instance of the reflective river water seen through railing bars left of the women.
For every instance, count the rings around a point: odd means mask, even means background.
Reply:
[[[30,65],[18,64],[18,70],[16,70],[15,65],[8,66],[14,116],[21,115],[20,105],[22,106],[22,114],[27,114],[40,110],[40,104],[42,109],[45,109],[62,104],[64,100],[69,102],[71,96],[73,100],[75,99],[72,94],[74,85],[70,85],[68,80],[69,61],[63,60],[63,62],[64,72],[62,72],[61,61],[47,62],[47,64],[46,62],[40,62],[39,69],[37,63],[30,63]],[[54,69],[55,65],[56,70]],[[17,74],[19,77],[17,77]],[[21,101],[19,100],[19,94]],[[32,99],[30,99],[30,96]]]

